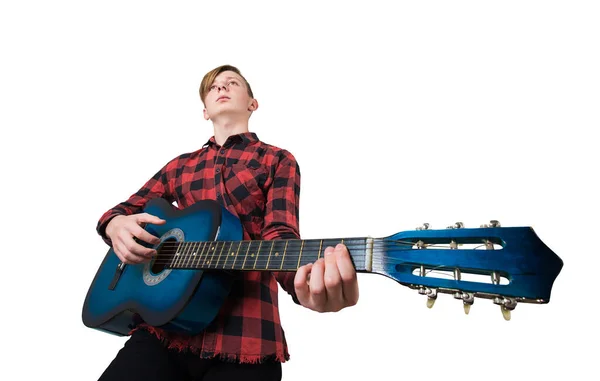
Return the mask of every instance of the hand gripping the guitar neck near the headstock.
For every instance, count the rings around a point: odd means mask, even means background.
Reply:
[[[298,301],[318,312],[337,312],[358,302],[356,270],[348,248],[327,247],[324,258],[300,267],[294,278]]]

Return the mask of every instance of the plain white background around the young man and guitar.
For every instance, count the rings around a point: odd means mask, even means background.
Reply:
[[[284,380],[597,379],[595,2],[7,3],[3,380],[95,380],[121,348],[81,322],[96,222],[212,135],[197,89],[221,64],[253,86],[250,129],[300,163],[303,238],[498,219],[565,262],[510,322],[377,275],[337,314],[282,294]]]

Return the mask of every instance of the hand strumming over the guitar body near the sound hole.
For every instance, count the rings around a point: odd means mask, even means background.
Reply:
[[[106,236],[112,241],[112,247],[119,259],[127,264],[138,264],[150,261],[156,250],[144,247],[134,240],[156,245],[158,237],[148,233],[142,224],[162,225],[165,220],[148,213],[116,216],[106,226]]]

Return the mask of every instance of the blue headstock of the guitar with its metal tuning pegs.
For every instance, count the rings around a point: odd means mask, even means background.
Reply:
[[[509,320],[518,302],[549,302],[562,266],[531,227],[501,227],[492,220],[479,228],[424,224],[376,240],[372,271],[426,295],[429,308],[439,293],[462,300],[465,313],[476,298],[485,298]]]

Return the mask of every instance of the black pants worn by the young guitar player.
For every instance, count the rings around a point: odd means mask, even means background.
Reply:
[[[239,364],[167,349],[153,334],[135,331],[99,381],[280,381],[281,363]]]

